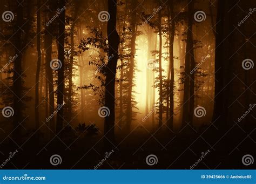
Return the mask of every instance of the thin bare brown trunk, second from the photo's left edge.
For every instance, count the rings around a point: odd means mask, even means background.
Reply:
[[[41,69],[41,0],[37,0],[37,69],[35,94],[35,121],[36,130],[39,127],[39,72]]]

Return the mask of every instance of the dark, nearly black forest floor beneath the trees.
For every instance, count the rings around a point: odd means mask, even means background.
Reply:
[[[255,128],[247,134],[238,126],[223,135],[212,125],[199,131],[187,126],[178,133],[167,128],[154,133],[138,128],[129,135],[116,135],[114,153],[98,169],[190,169],[196,163],[194,169],[252,169],[253,165],[244,166],[241,158],[245,154],[256,155],[252,148],[255,147]],[[105,152],[112,150],[103,150],[102,135],[65,134],[62,139],[55,137],[41,143],[35,137],[21,147],[12,140],[5,141],[1,144],[1,160],[15,149],[18,153],[5,169],[93,169],[104,159]],[[210,152],[198,162],[208,150]],[[49,159],[53,154],[61,156],[60,165],[51,165]],[[147,165],[145,160],[150,154],[157,156],[156,165]]]

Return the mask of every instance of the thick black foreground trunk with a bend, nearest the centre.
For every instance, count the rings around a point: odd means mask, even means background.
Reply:
[[[109,148],[114,144],[114,84],[116,80],[116,68],[118,59],[118,45],[119,35],[116,31],[116,17],[117,17],[117,0],[108,0],[108,9],[110,19],[107,22],[107,39],[109,40],[109,62],[107,63],[106,69],[106,86],[105,86],[105,107],[109,108],[109,116],[105,117],[104,121],[104,146]],[[110,57],[113,56],[113,57]]]

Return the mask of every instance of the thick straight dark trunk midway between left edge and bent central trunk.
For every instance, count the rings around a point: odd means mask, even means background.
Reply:
[[[59,9],[62,9],[65,6],[65,0],[59,0]],[[65,9],[59,15],[59,36],[57,39],[58,42],[58,59],[62,62],[62,67],[58,69],[58,87],[57,87],[57,104],[62,105],[64,103],[64,39],[65,39]],[[71,69],[72,73],[72,69]],[[72,83],[72,81],[71,81]],[[60,108],[57,112],[57,124],[56,124],[56,133],[62,131],[63,127],[63,107]]]

